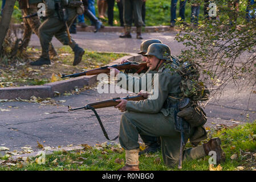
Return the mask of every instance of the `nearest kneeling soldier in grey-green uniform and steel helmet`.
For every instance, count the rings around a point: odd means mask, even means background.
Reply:
[[[182,78],[178,73],[164,67],[164,63],[172,64],[170,48],[165,44],[151,44],[145,55],[148,56],[149,70],[156,70],[158,73],[154,76],[159,80],[158,86],[154,86],[146,100],[120,100],[120,104],[116,106],[120,111],[126,111],[121,117],[119,131],[119,142],[125,149],[126,159],[126,164],[121,170],[125,171],[139,170],[139,134],[161,138],[162,158],[166,166],[173,167],[180,156],[181,135],[174,126],[174,112],[178,100],[168,95],[181,93]],[[144,96],[147,97],[147,94]],[[189,138],[196,139],[193,130],[196,130],[196,127],[190,129],[190,134],[185,134],[185,141]],[[184,150],[183,159],[198,159],[208,155],[210,151],[216,151],[217,163],[220,163],[224,159],[220,144],[219,138],[213,138],[202,146]]]

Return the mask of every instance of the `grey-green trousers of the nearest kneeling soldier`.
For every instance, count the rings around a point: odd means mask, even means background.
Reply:
[[[162,158],[166,166],[172,167],[180,156],[181,134],[174,130],[174,117],[162,113],[147,114],[125,112],[121,117],[119,142],[125,150],[139,148],[139,134],[161,138]],[[187,141],[189,135],[185,135]],[[183,152],[183,159],[198,159],[205,156],[202,146],[188,148]]]

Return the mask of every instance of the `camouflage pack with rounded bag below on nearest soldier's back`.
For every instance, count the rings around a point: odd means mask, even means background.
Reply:
[[[182,78],[180,82],[182,100],[178,102],[177,116],[188,122],[190,127],[203,126],[207,118],[198,102],[208,100],[210,92],[204,82],[199,80],[200,72],[196,64],[189,61],[182,63],[177,57],[173,55],[171,57],[172,64],[168,68],[171,73],[176,72]]]

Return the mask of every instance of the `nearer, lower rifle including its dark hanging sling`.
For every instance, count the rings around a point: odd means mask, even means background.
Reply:
[[[68,105],[68,111],[78,111],[78,110],[88,110],[88,109],[94,111],[94,114],[96,115],[96,118],[99,121],[101,130],[103,131],[103,134],[104,134],[105,138],[107,138],[108,140],[111,140],[111,139],[108,138],[107,131],[105,131],[103,123],[101,122],[101,119],[100,119],[100,117],[97,114],[95,109],[117,106],[120,102],[117,102],[116,100],[120,100],[120,99],[124,99],[124,100],[127,100],[127,101],[140,101],[140,100],[144,100],[145,98],[143,96],[131,96],[131,97],[127,96],[127,97],[124,97],[124,98],[117,97],[117,98],[112,98],[112,99],[109,99],[109,100],[93,102],[93,103],[87,104],[84,107],[78,107],[78,108],[74,108],[74,109],[72,109],[72,107],[70,105]],[[119,136],[117,135],[111,141],[116,140],[118,137]]]

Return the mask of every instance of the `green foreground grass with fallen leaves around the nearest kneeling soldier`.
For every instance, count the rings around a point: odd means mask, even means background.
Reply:
[[[233,129],[222,129],[213,131],[212,137],[220,137],[222,148],[226,154],[226,161],[221,163],[225,171],[237,170],[238,166],[243,166],[245,170],[255,167],[256,157],[248,155],[256,152],[256,121],[239,125]],[[245,153],[247,152],[247,153]],[[230,156],[237,154],[238,158],[230,159]],[[119,162],[116,159],[119,158]],[[6,160],[6,156],[0,157]],[[125,152],[118,145],[101,144],[96,147],[85,147],[80,151],[60,151],[51,155],[46,155],[46,164],[39,165],[36,158],[30,159],[27,164],[17,162],[16,166],[0,166],[0,170],[117,170],[124,166]],[[182,170],[185,171],[205,171],[209,170],[209,156],[202,159],[184,161]],[[74,163],[75,162],[75,163]],[[83,162],[77,164],[77,162]],[[215,166],[216,167],[216,166]],[[153,155],[140,156],[141,170],[178,170],[177,166],[169,168],[164,166],[160,152]]]

